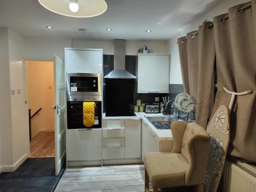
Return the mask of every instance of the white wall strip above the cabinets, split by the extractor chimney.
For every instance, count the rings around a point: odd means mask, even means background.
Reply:
[[[126,55],[137,55],[138,50],[143,46],[147,46],[153,53],[167,53],[167,41],[165,40],[152,40],[152,41],[136,41],[126,40],[125,49]],[[114,41],[113,40],[81,40],[72,39],[73,48],[94,48],[103,49],[103,54],[114,54]]]

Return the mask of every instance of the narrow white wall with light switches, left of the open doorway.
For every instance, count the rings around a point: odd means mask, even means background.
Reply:
[[[27,133],[27,116],[25,109],[25,91],[23,74],[23,37],[22,35],[8,29],[9,40],[9,65],[10,86],[15,90],[11,95],[11,119],[12,119],[12,148],[13,164],[27,155],[27,144],[29,142]],[[18,89],[20,93],[18,94]]]

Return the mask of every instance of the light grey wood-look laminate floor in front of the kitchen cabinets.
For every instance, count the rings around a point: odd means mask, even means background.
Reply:
[[[69,191],[144,192],[144,165],[67,168],[55,192]],[[181,192],[184,188],[163,191]]]

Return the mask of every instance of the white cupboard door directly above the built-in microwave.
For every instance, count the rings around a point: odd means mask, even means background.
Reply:
[[[65,48],[67,73],[102,74],[102,49]]]

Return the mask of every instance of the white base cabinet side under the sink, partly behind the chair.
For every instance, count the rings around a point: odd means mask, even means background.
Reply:
[[[159,152],[160,141],[157,139],[155,134],[151,131],[150,127],[142,121],[142,160],[144,154],[147,152]]]

